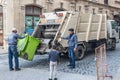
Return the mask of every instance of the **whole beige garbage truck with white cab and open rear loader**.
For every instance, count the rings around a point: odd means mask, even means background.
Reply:
[[[61,54],[68,52],[67,41],[61,39],[69,35],[73,28],[78,37],[76,59],[83,59],[85,53],[105,43],[107,49],[115,50],[118,42],[118,25],[114,20],[107,20],[106,14],[88,14],[72,11],[50,12],[40,15],[38,26],[32,36],[41,40],[37,53],[45,54],[52,45],[57,46]]]

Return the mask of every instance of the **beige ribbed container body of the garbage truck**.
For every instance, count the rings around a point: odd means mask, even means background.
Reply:
[[[69,19],[60,30],[61,36],[69,34],[68,29],[74,28],[78,41],[99,40],[107,38],[106,15],[105,14],[83,14],[79,12],[70,13]],[[60,43],[67,47],[67,41],[61,40]]]

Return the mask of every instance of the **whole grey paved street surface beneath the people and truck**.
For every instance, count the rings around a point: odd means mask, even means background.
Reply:
[[[26,80],[28,76],[30,76],[30,80],[34,79],[47,80],[49,72],[47,57],[48,55],[37,55],[34,57],[33,61],[26,61],[20,59],[20,67],[22,68],[22,71],[9,72],[7,54],[0,55],[0,78],[2,80],[8,80],[9,78],[10,78],[9,80]],[[117,48],[115,51],[107,51],[107,64],[109,65],[109,73],[112,74],[113,77],[117,75],[116,73],[120,72],[119,63],[120,63],[120,43],[117,44]],[[67,64],[68,58],[62,57],[61,63],[58,66],[59,72],[58,77],[60,78],[60,80],[90,80],[90,79],[96,80],[94,53],[88,53],[83,60],[76,61],[75,69],[72,70],[69,69],[66,66]],[[13,78],[11,78],[10,75],[12,75]],[[32,78],[33,75],[34,77]],[[70,77],[70,75],[73,77]],[[23,76],[23,78],[21,78],[21,76]],[[86,76],[88,77],[88,79],[86,79]],[[17,77],[20,77],[20,79],[17,79]]]

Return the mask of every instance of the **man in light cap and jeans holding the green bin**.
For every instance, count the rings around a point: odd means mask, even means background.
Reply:
[[[17,52],[17,41],[18,38],[24,38],[17,34],[17,29],[13,28],[12,33],[8,36],[8,63],[10,71],[13,71],[13,57],[15,61],[15,70],[21,70],[19,68],[18,52]]]

